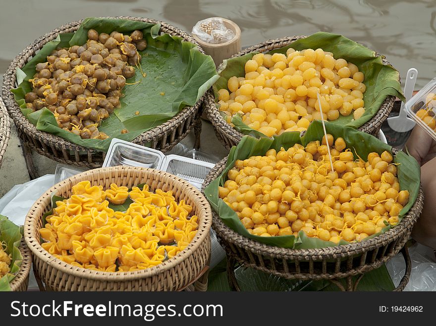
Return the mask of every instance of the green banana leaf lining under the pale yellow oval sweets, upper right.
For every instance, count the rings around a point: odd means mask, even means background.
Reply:
[[[354,120],[353,115],[349,115],[348,117],[340,115],[339,119],[331,122],[333,124],[359,128],[374,117],[388,95],[397,96],[402,101],[405,100],[401,85],[398,82],[399,72],[392,67],[392,65],[383,65],[382,57],[376,57],[376,53],[373,50],[342,35],[317,32],[305,39],[294,41],[285,47],[272,50],[268,53],[286,54],[286,50],[289,48],[295,50],[316,50],[321,48],[324,51],[333,53],[335,59],[342,58],[357,65],[359,71],[365,74],[365,80],[363,82],[366,86],[366,91],[363,94],[366,108],[365,113],[357,120]],[[218,71],[219,79],[214,84],[216,94],[221,88],[227,89],[227,81],[230,77],[245,76],[245,63],[252,59],[257,53],[258,52],[252,52],[242,57],[224,60],[224,67]],[[235,116],[231,120],[235,125],[235,129],[244,134],[249,134],[252,129],[239,120],[240,119]]]

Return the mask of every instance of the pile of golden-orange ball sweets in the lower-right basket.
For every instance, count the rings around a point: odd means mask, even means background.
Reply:
[[[343,138],[267,151],[237,160],[219,197],[238,215],[250,234],[271,237],[304,231],[311,238],[338,243],[360,241],[398,223],[409,200],[400,191],[392,155],[370,153],[354,159]],[[332,147],[334,146],[334,147]]]

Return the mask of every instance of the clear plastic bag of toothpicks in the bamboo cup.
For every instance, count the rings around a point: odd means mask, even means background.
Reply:
[[[192,34],[206,43],[219,44],[230,41],[235,37],[235,33],[225,27],[222,19],[219,18],[206,18],[200,20],[192,28]]]

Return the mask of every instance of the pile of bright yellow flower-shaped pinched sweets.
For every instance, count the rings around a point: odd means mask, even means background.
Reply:
[[[109,201],[133,200],[125,212],[114,211]],[[172,192],[150,192],[117,187],[103,191],[82,181],[72,196],[56,202],[53,215],[40,229],[42,247],[74,266],[124,272],[156,266],[184,250],[195,237],[198,217],[184,199]]]

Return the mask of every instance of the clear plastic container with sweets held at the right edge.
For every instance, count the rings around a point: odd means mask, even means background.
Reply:
[[[436,140],[436,78],[407,101],[405,108],[409,117]]]

